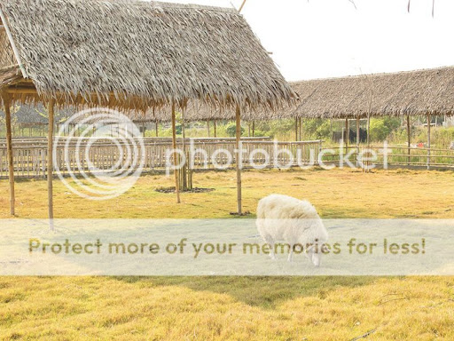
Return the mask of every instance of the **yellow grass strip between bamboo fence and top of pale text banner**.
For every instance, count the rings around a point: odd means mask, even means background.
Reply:
[[[454,218],[452,171],[246,171],[245,210],[272,193],[306,198],[323,218]],[[162,175],[139,178],[128,193],[107,202],[88,202],[55,181],[56,218],[229,218],[236,209],[235,173],[196,174],[195,186],[215,188],[208,194],[175,195],[155,189],[172,186]],[[0,218],[9,218],[8,182],[0,181]],[[19,218],[46,218],[47,184],[21,180],[16,189]]]

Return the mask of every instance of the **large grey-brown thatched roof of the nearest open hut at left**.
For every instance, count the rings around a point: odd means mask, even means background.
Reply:
[[[294,97],[233,9],[124,0],[0,0],[0,10],[20,57],[14,58],[2,31],[0,87],[29,89],[16,100],[142,109],[188,99],[279,107]]]

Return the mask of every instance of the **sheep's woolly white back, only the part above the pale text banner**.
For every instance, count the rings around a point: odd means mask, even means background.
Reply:
[[[264,219],[317,219],[318,214],[310,202],[282,194],[263,198],[257,207],[257,218]]]

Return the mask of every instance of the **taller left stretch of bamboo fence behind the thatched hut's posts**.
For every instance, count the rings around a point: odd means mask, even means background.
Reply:
[[[17,178],[46,177],[47,147],[45,141],[15,140],[13,143],[14,174]],[[97,141],[89,146],[88,140],[82,140],[80,146],[71,142],[65,146],[60,141],[54,160],[56,168],[63,175],[74,175],[112,171],[115,165],[127,161],[126,149],[132,145],[121,142]],[[180,140],[179,147],[182,147]],[[322,141],[305,142],[272,142],[270,140],[245,139],[242,142],[244,168],[285,168],[305,166],[317,163]],[[186,155],[192,155],[194,170],[209,170],[215,168],[232,169],[235,160],[235,142],[231,139],[186,139],[184,141]],[[170,140],[145,139],[142,145],[136,144],[137,153],[144,155],[144,172],[162,171],[173,165],[173,155],[170,153]],[[131,149],[132,150],[132,149]],[[229,157],[231,155],[231,158]],[[190,162],[190,161],[189,161]],[[140,164],[140,160],[137,165]],[[8,163],[6,147],[0,141],[0,178],[7,178]]]

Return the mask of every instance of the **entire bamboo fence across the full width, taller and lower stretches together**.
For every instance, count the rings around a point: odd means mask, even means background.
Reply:
[[[112,171],[115,164],[124,164],[126,155],[121,153],[131,147],[129,143],[115,144],[110,140],[97,140],[89,148],[90,139],[59,142],[55,164],[63,175],[74,175]],[[117,141],[118,142],[118,141]],[[322,142],[273,142],[270,139],[245,139],[243,145],[243,168],[286,168],[297,166],[320,165],[319,157],[325,164],[345,164],[345,155],[351,164],[361,167],[361,157],[367,156],[365,147],[322,148]],[[183,140],[179,140],[179,147]],[[14,139],[13,141],[14,174],[17,178],[45,178],[47,160],[47,142],[45,139]],[[137,144],[137,155],[144,155],[144,172],[163,171],[173,164],[170,139],[144,139],[145,150],[142,153]],[[235,160],[235,142],[232,139],[185,139],[185,155],[191,155],[189,163],[197,170],[233,169]],[[191,147],[192,146],[192,147]],[[369,163],[376,166],[411,166],[454,169],[454,150],[414,147],[372,146],[374,159]],[[320,154],[322,153],[322,155]],[[229,156],[231,155],[231,157]],[[137,164],[140,163],[140,160]],[[0,178],[8,177],[6,146],[0,140]]]

